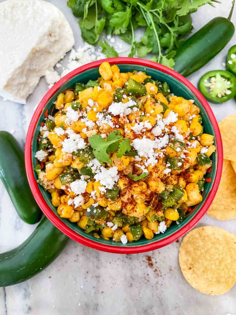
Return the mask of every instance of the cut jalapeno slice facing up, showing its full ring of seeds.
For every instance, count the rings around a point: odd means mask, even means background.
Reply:
[[[236,94],[236,77],[228,71],[214,70],[199,80],[199,90],[213,103],[224,103]]]

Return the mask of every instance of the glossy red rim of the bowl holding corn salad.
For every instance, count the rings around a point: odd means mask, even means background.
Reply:
[[[38,187],[38,184],[35,179],[34,172],[33,172],[32,157],[31,157],[31,144],[32,144],[33,135],[34,135],[34,131],[35,131],[38,119],[44,109],[44,106],[64,83],[66,83],[72,77],[76,76],[77,74],[81,72],[100,66],[100,64],[104,61],[107,61],[111,64],[131,64],[131,65],[151,67],[156,70],[165,72],[168,75],[174,77],[175,79],[177,79],[178,81],[186,85],[192,91],[192,93],[196,96],[196,98],[200,101],[202,106],[205,108],[206,113],[208,114],[208,117],[210,119],[210,122],[213,126],[213,129],[216,135],[216,146],[217,146],[216,177],[215,177],[213,186],[211,188],[211,191],[209,192],[205,200],[205,203],[202,205],[202,207],[199,209],[198,213],[193,217],[193,219],[189,221],[188,224],[183,226],[179,231],[171,234],[170,236],[162,240],[159,240],[157,242],[150,243],[147,245],[142,245],[142,246],[137,246],[137,247],[114,247],[111,245],[103,245],[101,243],[97,243],[95,241],[89,240],[77,234],[76,232],[71,230],[70,227],[66,226],[65,223],[63,223],[50,209],[50,207],[48,206],[48,204],[42,197],[42,194],[39,190],[39,187]],[[97,60],[97,61],[88,63],[84,66],[81,66],[71,71],[67,75],[65,75],[65,77],[61,78],[55,85],[53,85],[53,87],[46,93],[46,95],[40,101],[31,119],[27,136],[26,136],[26,141],[25,141],[25,168],[26,168],[27,178],[28,178],[33,196],[36,199],[39,207],[42,209],[43,213],[47,216],[47,218],[56,227],[58,227],[60,231],[65,233],[67,236],[69,236],[73,240],[94,249],[98,249],[98,250],[102,250],[102,251],[110,252],[110,253],[118,253],[118,254],[143,253],[143,252],[147,252],[150,250],[154,250],[154,249],[166,246],[176,241],[178,238],[181,238],[190,229],[192,229],[198,223],[198,221],[205,215],[206,211],[209,209],[216,195],[216,191],[218,189],[220,179],[221,179],[221,174],[222,174],[222,163],[223,163],[223,149],[222,149],[222,140],[221,140],[220,130],[219,130],[216,118],[211,110],[211,107],[209,106],[209,104],[207,103],[203,95],[198,91],[198,89],[194,87],[192,83],[190,83],[185,77],[175,72],[174,70],[171,70],[170,68],[160,65],[156,62],[139,59],[139,58],[117,57],[117,58],[107,58],[103,60]]]

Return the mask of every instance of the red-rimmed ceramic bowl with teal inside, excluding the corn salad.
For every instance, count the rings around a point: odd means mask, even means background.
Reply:
[[[99,77],[98,68],[104,61],[108,61],[110,64],[117,64],[121,72],[132,72],[134,70],[144,71],[154,80],[159,80],[161,82],[166,81],[170,85],[171,92],[174,93],[174,95],[194,100],[195,104],[200,108],[204,132],[215,136],[215,145],[217,147],[216,152],[211,156],[213,162],[212,170],[211,173],[207,173],[207,177],[211,177],[211,181],[205,183],[202,202],[189,212],[187,217],[181,223],[177,225],[173,222],[164,234],[160,233],[159,235],[155,235],[151,240],[142,237],[138,241],[128,242],[125,245],[121,242],[114,242],[112,239],[105,240],[104,238],[94,238],[93,232],[85,233],[76,223],[72,223],[68,219],[60,218],[57,214],[57,209],[52,205],[50,193],[37,184],[37,175],[34,171],[37,163],[36,158],[34,157],[37,151],[37,136],[41,123],[44,122],[45,112],[48,110],[51,114],[53,102],[55,102],[59,93],[74,88],[76,82],[87,83],[90,79],[96,80]],[[176,241],[190,231],[203,215],[205,215],[207,209],[211,205],[219,186],[222,173],[222,161],[223,153],[220,131],[216,118],[205,98],[186,78],[177,72],[158,63],[138,58],[122,57],[94,61],[75,69],[60,79],[39,103],[32,117],[25,143],[25,166],[27,177],[34,198],[44,214],[55,226],[75,241],[94,249],[112,253],[130,254],[157,249]]]

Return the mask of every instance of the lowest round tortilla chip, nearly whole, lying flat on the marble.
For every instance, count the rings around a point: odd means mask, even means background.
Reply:
[[[215,226],[190,231],[180,244],[179,265],[194,289],[209,295],[226,293],[236,280],[236,235]]]

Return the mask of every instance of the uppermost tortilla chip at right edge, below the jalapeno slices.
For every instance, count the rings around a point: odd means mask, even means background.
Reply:
[[[222,137],[224,159],[236,162],[236,146],[233,140],[236,138],[236,114],[228,115],[219,123]]]

